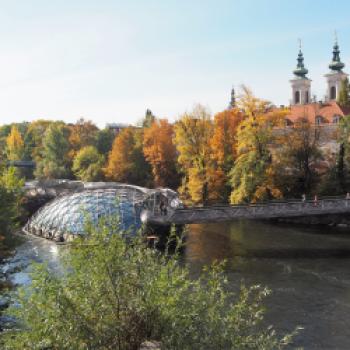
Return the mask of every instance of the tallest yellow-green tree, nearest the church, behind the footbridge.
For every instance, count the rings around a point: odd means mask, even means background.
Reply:
[[[270,146],[273,127],[280,125],[285,111],[273,110],[247,88],[238,103],[244,120],[237,132],[238,157],[230,174],[230,201],[235,204],[281,197],[273,182]]]

